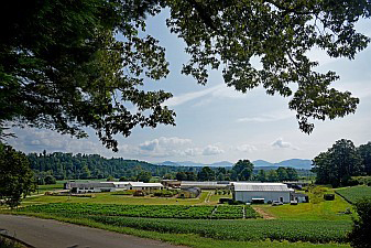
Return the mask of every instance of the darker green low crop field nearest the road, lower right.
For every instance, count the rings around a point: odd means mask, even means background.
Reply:
[[[150,219],[110,216],[89,216],[90,219],[113,226],[161,233],[198,234],[227,240],[288,240],[309,242],[345,242],[350,222],[318,220],[206,220]]]

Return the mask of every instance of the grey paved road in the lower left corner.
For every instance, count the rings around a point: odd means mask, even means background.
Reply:
[[[179,248],[152,239],[15,215],[0,215],[0,233],[36,248]]]

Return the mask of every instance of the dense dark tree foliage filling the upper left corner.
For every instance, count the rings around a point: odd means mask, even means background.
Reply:
[[[174,123],[174,112],[161,106],[172,95],[140,89],[144,79],[168,73],[164,48],[139,35],[145,14],[157,13],[151,1],[15,0],[3,11],[0,125],[15,121],[78,138],[91,127],[117,150],[116,133]]]

